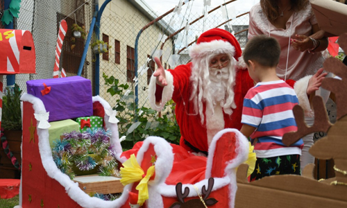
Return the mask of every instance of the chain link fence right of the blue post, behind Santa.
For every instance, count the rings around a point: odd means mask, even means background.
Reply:
[[[165,69],[186,64],[190,60],[189,46],[194,44],[203,31],[216,27],[235,34],[242,47],[246,44],[248,12],[228,14],[226,8],[232,6],[232,2],[219,8],[206,7],[200,12],[194,12],[194,2],[196,1],[188,1],[180,9],[176,8],[154,24],[150,24],[151,20],[146,18],[146,12],[140,12],[128,1],[111,1],[106,6],[101,17],[99,38],[108,42],[110,50],[108,54],[100,56],[100,71],[108,77],[115,76],[119,85],[130,85],[132,92],[135,92],[137,86],[138,93],[135,98],[138,99],[139,108],[149,107],[148,84],[156,65],[148,58],[161,56]],[[99,4],[101,5],[101,2]],[[150,15],[155,17],[153,13]],[[142,31],[144,27],[146,28]],[[135,42],[137,35],[138,42]],[[137,69],[135,48],[138,54]],[[137,77],[135,70],[138,72]],[[100,96],[115,107],[119,97],[111,96],[108,89],[109,86],[105,85],[105,80],[100,76]]]

